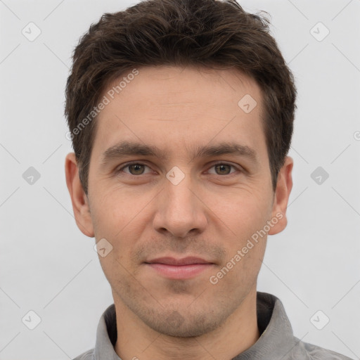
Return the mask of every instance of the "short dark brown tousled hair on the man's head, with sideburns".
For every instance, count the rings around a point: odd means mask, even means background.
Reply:
[[[264,98],[262,124],[276,188],[290,148],[297,93],[264,16],[247,13],[236,0],[145,0],[125,11],[104,13],[79,39],[72,60],[65,117],[86,195],[96,116],[86,126],[82,120],[89,120],[117,77],[156,65],[237,68],[255,79]]]

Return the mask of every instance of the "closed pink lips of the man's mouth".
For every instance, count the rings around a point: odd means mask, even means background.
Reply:
[[[200,257],[160,257],[145,262],[147,266],[156,271],[157,274],[170,279],[194,278],[203,271],[212,268],[213,262],[208,262]]]

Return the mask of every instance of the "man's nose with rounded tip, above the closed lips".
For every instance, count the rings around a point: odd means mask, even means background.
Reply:
[[[153,219],[156,231],[169,231],[173,236],[185,238],[190,232],[202,233],[205,230],[206,206],[191,184],[190,175],[186,174],[176,185],[166,179],[165,188],[160,191],[157,201]]]

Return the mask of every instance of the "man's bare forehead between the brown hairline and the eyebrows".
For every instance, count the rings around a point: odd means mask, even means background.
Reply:
[[[174,66],[136,72],[124,73],[101,95],[108,104],[96,119],[99,156],[121,140],[162,144],[169,153],[212,139],[251,147],[264,142],[261,90],[243,72]]]

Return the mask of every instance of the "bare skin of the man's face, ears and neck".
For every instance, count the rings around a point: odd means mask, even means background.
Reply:
[[[246,94],[257,101],[250,113],[238,106]],[[238,70],[139,68],[96,120],[88,197],[74,153],[66,157],[79,229],[113,246],[99,260],[113,292],[115,351],[123,360],[229,360],[259,338],[256,285],[267,236],[252,241],[254,246],[216,284],[210,276],[276,214],[283,217],[269,234],[286,226],[293,160],[286,158],[274,192],[261,115],[259,86]],[[167,159],[125,155],[102,163],[105,150],[120,141],[156,146]],[[222,142],[248,146],[255,156],[191,161],[199,147]],[[120,171],[127,162],[139,165]],[[176,185],[167,178],[173,167],[184,174]],[[157,257],[188,256],[212,265],[192,278],[172,279],[145,264]]]

